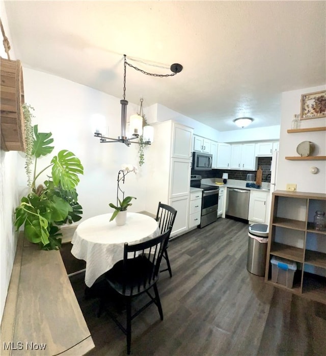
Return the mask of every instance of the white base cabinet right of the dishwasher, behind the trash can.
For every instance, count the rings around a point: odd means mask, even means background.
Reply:
[[[269,192],[259,190],[250,191],[248,220],[250,222],[266,223]]]

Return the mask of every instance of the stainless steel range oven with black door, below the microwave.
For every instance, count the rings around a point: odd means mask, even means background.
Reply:
[[[201,219],[198,227],[204,227],[218,219],[219,187],[201,184],[201,175],[191,175],[190,186],[202,189]]]

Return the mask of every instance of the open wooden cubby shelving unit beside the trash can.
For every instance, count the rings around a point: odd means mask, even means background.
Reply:
[[[273,193],[265,281],[326,304],[326,231],[314,228],[317,210],[326,211],[326,194],[282,190]],[[271,281],[273,256],[296,263],[293,288]]]

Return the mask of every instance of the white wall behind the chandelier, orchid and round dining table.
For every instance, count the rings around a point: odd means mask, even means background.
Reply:
[[[112,211],[109,202],[116,202],[117,174],[122,164],[138,166],[138,145],[130,147],[122,143],[100,143],[93,136],[92,115],[99,113],[106,119],[108,135],[120,136],[120,99],[29,68],[23,68],[25,102],[34,107],[39,132],[51,132],[55,149],[41,158],[40,171],[61,149],[71,150],[84,165],[84,175],[77,186],[78,201],[83,207],[83,219]],[[129,104],[127,115],[137,111]],[[20,190],[25,187],[24,160],[20,161]],[[45,172],[46,173],[46,172]],[[128,174],[125,180],[126,195],[136,196],[130,211],[144,210],[146,176],[145,165],[139,173]],[[46,179],[44,174],[38,183]],[[83,221],[83,220],[82,220]]]

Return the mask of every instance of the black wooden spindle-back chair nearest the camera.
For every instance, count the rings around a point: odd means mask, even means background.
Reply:
[[[130,354],[131,346],[131,320],[139,315],[152,303],[156,304],[160,319],[163,320],[161,302],[158,295],[156,282],[159,276],[159,266],[163,253],[168,242],[172,226],[158,237],[151,240],[128,245],[124,244],[123,260],[117,262],[113,268],[105,273],[108,285],[122,296],[126,306],[126,327],[124,327],[114,313],[106,310],[108,315],[116,322],[127,337],[127,353]],[[149,290],[153,288],[155,295],[152,296]],[[131,301],[143,293],[147,293],[149,301],[133,315],[131,315]],[[101,298],[98,317],[105,304],[105,298]]]

